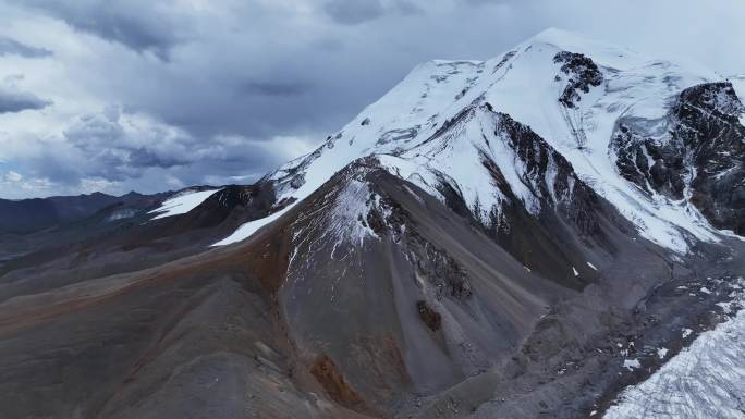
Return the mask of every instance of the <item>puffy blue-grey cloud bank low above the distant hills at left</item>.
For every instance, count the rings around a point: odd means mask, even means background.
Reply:
[[[248,138],[197,139],[186,133],[174,135],[158,124],[133,132],[124,126],[132,125],[124,121],[127,116],[117,108],[82,115],[64,131],[65,147],[58,146],[56,153],[42,152],[26,165],[35,176],[68,186],[84,178],[143,186],[138,180],[155,172],[195,184],[204,183],[207,175],[230,178],[252,168],[281,162],[270,152],[252,150]],[[152,187],[157,185],[149,185]]]

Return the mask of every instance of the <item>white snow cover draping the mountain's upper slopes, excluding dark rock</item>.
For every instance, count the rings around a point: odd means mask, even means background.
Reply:
[[[553,58],[563,50],[593,59],[604,78],[602,85],[583,94],[574,109],[558,101],[567,76]],[[684,252],[688,237],[716,242],[719,234],[726,233],[711,227],[687,200],[649,197],[623,178],[609,143],[619,118],[659,120],[683,89],[721,79],[707,69],[654,60],[577,34],[547,29],[488,61],[435,60],[416,66],[318,150],[284,164],[269,178],[280,180],[291,170],[302,173],[302,186],[278,189],[278,200],[296,198],[300,202],[351,162],[377,156],[391,173],[437,197],[435,186],[447,181],[462,193],[472,210],[478,207],[477,215],[484,218],[508,199],[480,163],[479,156],[485,153],[497,162],[517,199],[535,212],[540,209],[539,199],[532,192],[535,188],[528,187],[534,181],[527,178],[522,161],[502,135],[494,132],[494,115],[478,106],[488,102],[493,112],[528,125],[563,155],[578,177],[631,220],[642,236]],[[477,104],[472,114],[452,124],[444,135],[435,136],[472,104]],[[549,186],[551,176],[547,174]],[[251,235],[246,232],[256,231],[248,226],[239,230],[243,233],[220,244],[244,239]]]

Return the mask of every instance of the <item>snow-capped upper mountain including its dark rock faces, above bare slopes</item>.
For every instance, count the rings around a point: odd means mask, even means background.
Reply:
[[[711,71],[548,29],[492,60],[417,66],[268,181],[278,202],[297,201],[376,156],[440,199],[443,187],[457,192],[489,224],[505,205],[536,213],[571,200],[576,177],[642,236],[683,252],[689,238],[743,232],[742,115],[732,85]]]

